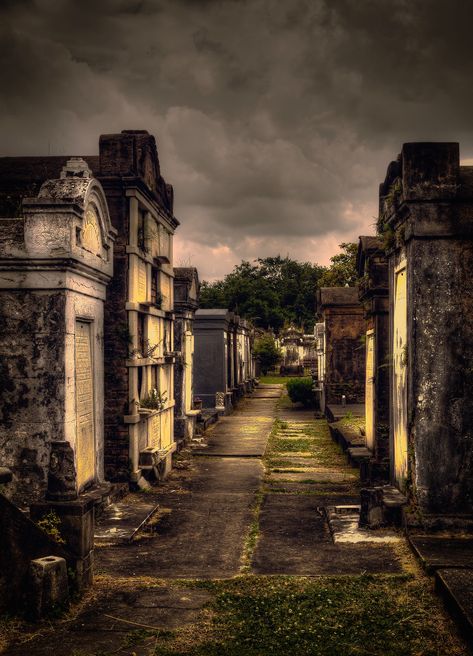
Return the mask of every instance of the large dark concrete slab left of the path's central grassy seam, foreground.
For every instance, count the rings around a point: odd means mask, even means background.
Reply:
[[[258,460],[199,458],[181,489],[159,495],[144,539],[96,550],[99,571],[123,576],[226,578],[239,572],[263,467]],[[177,487],[177,486],[176,486]]]

